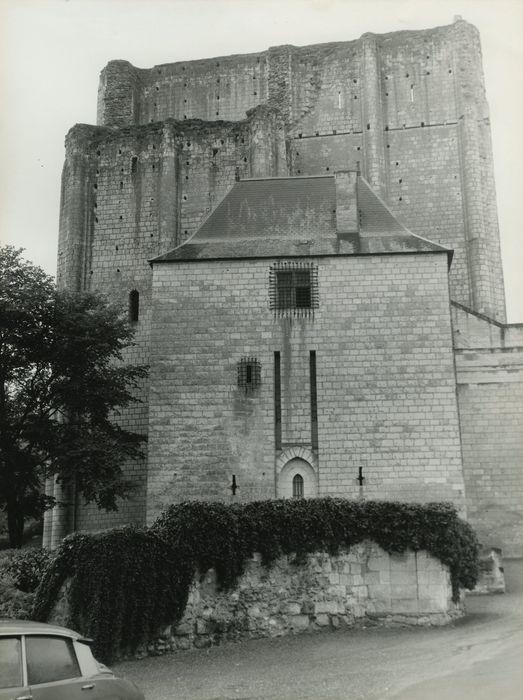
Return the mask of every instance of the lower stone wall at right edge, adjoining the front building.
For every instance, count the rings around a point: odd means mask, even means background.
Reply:
[[[523,555],[523,325],[453,305],[467,515],[485,547]]]

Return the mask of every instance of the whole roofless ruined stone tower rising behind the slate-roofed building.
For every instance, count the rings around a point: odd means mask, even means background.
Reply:
[[[488,107],[465,21],[348,42],[102,71],[98,125],[66,138],[58,283],[130,305],[149,361],[149,260],[183,243],[235,181],[361,172],[410,231],[452,249],[454,302],[505,321]],[[123,417],[147,433],[143,403]],[[146,465],[118,514],[145,520]]]

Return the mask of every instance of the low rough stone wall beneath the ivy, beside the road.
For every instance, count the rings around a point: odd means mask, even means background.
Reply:
[[[447,567],[426,552],[389,555],[369,542],[270,568],[255,556],[230,591],[218,590],[214,571],[195,580],[180,624],[148,652],[356,625],[443,625],[463,615],[451,597]]]

